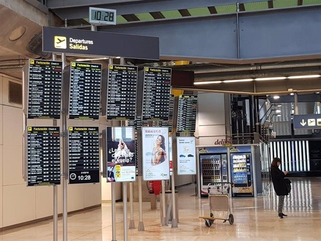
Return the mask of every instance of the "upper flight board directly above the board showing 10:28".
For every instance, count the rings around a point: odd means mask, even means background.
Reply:
[[[69,119],[99,119],[101,64],[70,66]]]

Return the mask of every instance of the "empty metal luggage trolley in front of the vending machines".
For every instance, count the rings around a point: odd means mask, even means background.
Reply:
[[[200,216],[200,218],[205,219],[205,225],[207,227],[210,227],[215,219],[224,220],[223,222],[228,220],[230,224],[234,223],[229,200],[231,184],[232,183],[229,182],[211,182],[208,184],[207,190],[209,193],[210,216]],[[214,217],[212,211],[226,212],[226,216],[225,218]]]

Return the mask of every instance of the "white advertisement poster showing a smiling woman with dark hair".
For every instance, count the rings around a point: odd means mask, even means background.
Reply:
[[[170,179],[169,129],[143,127],[141,135],[143,180]]]

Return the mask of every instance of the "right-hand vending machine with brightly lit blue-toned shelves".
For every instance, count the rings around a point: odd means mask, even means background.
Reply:
[[[232,196],[253,196],[251,152],[231,153]]]

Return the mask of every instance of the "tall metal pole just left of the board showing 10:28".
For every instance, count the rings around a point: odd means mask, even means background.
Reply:
[[[67,27],[67,19],[65,19],[65,27]],[[62,69],[64,70],[66,66],[66,54],[62,53],[61,54],[61,59],[62,59]],[[65,96],[65,85],[62,85],[62,97],[64,98]],[[67,227],[67,222],[68,222],[68,209],[67,209],[67,188],[68,188],[68,165],[67,165],[67,158],[66,158],[66,145],[68,143],[66,142],[66,135],[67,135],[67,102],[66,100],[63,99],[63,111],[62,111],[62,116],[61,116],[61,126],[62,126],[62,164],[63,164],[63,186],[62,186],[62,198],[63,198],[63,210],[62,210],[62,222],[63,222],[63,241],[68,241],[68,227]]]

